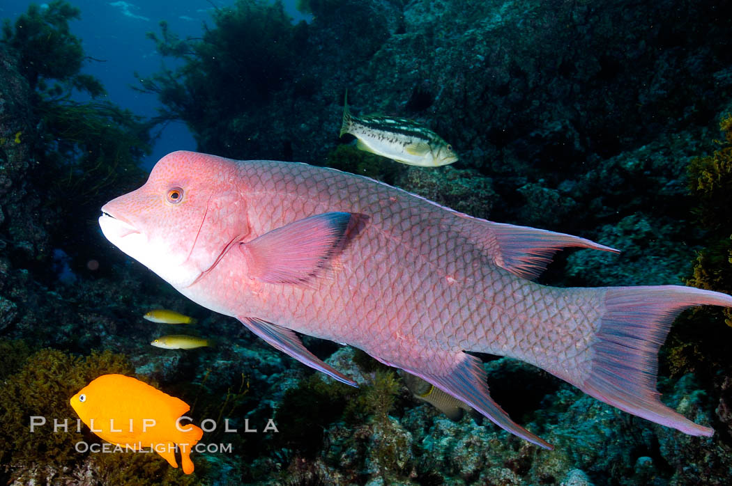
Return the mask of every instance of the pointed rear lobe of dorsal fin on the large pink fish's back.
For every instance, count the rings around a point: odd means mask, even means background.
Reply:
[[[549,265],[553,254],[562,248],[574,246],[620,253],[615,248],[565,233],[493,221],[476,222],[480,232],[477,239],[496,265],[529,280],[537,278]]]

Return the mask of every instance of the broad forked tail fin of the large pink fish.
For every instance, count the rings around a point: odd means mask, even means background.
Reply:
[[[661,403],[656,390],[658,350],[673,319],[693,305],[732,307],[732,297],[676,285],[606,289],[605,312],[591,344],[590,371],[572,384],[651,422],[692,436],[712,436],[712,428],[695,424]]]

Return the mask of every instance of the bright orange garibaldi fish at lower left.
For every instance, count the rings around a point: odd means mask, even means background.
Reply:
[[[193,472],[190,452],[203,430],[179,423],[190,409],[183,400],[130,376],[102,375],[70,401],[81,421],[105,441],[133,450],[150,448],[174,468],[177,446],[183,472]]]

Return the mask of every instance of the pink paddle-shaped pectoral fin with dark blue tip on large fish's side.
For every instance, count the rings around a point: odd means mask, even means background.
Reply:
[[[267,284],[306,281],[331,256],[350,220],[351,213],[322,213],[240,243],[249,275]]]

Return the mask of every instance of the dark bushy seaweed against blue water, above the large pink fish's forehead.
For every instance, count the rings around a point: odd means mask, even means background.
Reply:
[[[293,25],[279,0],[236,0],[212,16],[215,26],[201,39],[180,39],[165,22],[160,36],[148,34],[163,56],[183,65],[141,77],[141,91],[160,97],[165,108],[157,121],[184,121],[201,150],[250,153],[260,127],[247,114],[288,86],[307,26]]]

